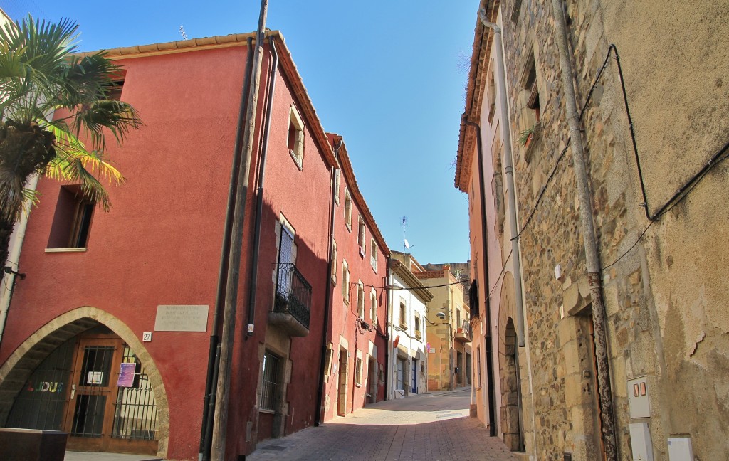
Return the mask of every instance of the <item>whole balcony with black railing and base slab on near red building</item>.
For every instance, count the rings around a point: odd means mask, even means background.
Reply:
[[[311,285],[294,264],[278,264],[276,301],[268,312],[268,323],[286,331],[289,336],[309,334]]]

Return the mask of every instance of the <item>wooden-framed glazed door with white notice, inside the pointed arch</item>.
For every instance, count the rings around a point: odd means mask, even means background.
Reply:
[[[69,449],[86,452],[108,449],[122,349],[118,337],[79,339],[64,427],[69,433]]]

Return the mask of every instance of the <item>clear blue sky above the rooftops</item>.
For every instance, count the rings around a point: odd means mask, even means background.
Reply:
[[[254,31],[260,2],[0,0],[80,25],[81,50]],[[357,182],[390,248],[421,263],[469,259],[467,197],[453,162],[477,1],[269,0],[324,129],[343,135]]]

